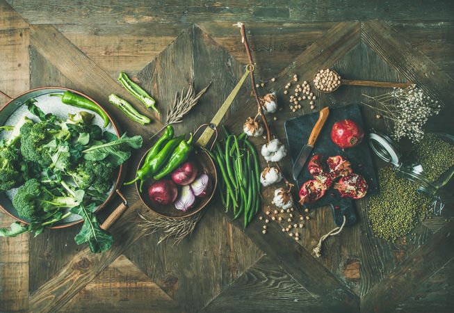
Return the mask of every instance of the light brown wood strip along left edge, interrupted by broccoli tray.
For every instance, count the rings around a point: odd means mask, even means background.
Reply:
[[[29,89],[28,24],[0,1],[0,90],[13,97]],[[0,97],[0,107],[8,98]],[[0,227],[13,219],[0,212]],[[0,237],[0,311],[26,311],[29,307],[29,235]]]

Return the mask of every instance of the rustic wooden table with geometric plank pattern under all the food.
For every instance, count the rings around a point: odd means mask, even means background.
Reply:
[[[452,1],[229,2],[0,0],[0,90],[11,96],[40,86],[81,90],[106,104],[124,131],[143,135],[147,146],[161,124],[138,127],[108,106],[115,90],[144,111],[119,88],[117,73],[137,77],[162,111],[191,79],[197,89],[213,81],[177,127],[193,131],[211,120],[241,77],[248,61],[232,24],[245,22],[257,79],[277,79],[261,93],[282,90],[293,73],[309,80],[324,67],[350,79],[410,80],[446,105],[430,129],[454,133]],[[362,93],[380,91],[343,87],[319,95],[316,107],[359,103]],[[284,120],[295,116],[284,108],[272,125],[282,140]],[[243,88],[225,122],[239,132],[254,111],[250,88]],[[298,114],[309,111],[305,106]],[[363,113],[368,126],[384,127],[375,113]],[[289,158],[283,164],[291,177]],[[316,259],[312,248],[334,227],[327,207],[310,212],[298,244],[277,223],[266,235],[259,220],[244,231],[215,201],[190,239],[157,245],[161,234],[145,236],[136,226],[138,212],[150,213],[132,187],[122,190],[131,207],[111,229],[115,245],[102,255],[76,246],[80,226],[0,238],[0,312],[453,310],[453,210],[391,244],[373,236],[366,200],[359,200],[359,225],[328,239],[324,257]],[[1,226],[11,221],[0,214]]]

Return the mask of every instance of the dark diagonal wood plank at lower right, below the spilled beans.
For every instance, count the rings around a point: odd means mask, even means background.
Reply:
[[[454,221],[436,232],[361,300],[364,312],[389,312],[454,257]],[[386,299],[386,300],[384,300]]]

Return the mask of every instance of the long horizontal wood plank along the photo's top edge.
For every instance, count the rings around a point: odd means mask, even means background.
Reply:
[[[149,22],[195,22],[197,20],[229,22],[259,21],[343,21],[357,19],[414,19],[453,20],[448,0],[430,5],[415,5],[414,1],[105,1],[67,3],[64,0],[44,2],[39,0],[8,0],[31,24],[75,24]],[[77,19],[74,19],[77,16]]]

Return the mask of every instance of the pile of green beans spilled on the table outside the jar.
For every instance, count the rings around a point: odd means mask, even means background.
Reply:
[[[387,241],[396,241],[410,233],[419,223],[419,216],[430,207],[430,198],[416,193],[418,186],[397,177],[390,167],[378,170],[380,194],[368,201],[368,220],[374,234]]]

